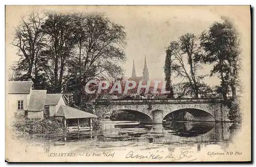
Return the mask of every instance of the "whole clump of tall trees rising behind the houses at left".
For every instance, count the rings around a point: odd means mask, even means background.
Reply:
[[[77,105],[91,79],[117,78],[126,60],[124,27],[100,13],[32,12],[16,28],[16,81],[31,78],[35,89],[72,92]]]

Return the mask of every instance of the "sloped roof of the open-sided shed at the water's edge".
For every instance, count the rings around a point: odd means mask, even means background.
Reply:
[[[86,111],[78,110],[69,106],[60,105],[55,116],[65,116],[66,119],[70,118],[92,118],[97,117]]]

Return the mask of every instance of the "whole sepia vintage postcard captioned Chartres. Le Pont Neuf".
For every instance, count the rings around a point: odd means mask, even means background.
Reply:
[[[6,6],[7,162],[251,161],[250,6]]]

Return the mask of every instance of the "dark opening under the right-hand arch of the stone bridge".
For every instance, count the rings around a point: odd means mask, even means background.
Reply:
[[[170,117],[172,121],[179,120],[178,117],[175,119],[175,116],[179,115],[182,118],[186,112],[193,116],[190,121],[215,121],[214,115],[197,108],[182,108],[171,111],[163,116],[163,120],[166,120],[167,117]]]

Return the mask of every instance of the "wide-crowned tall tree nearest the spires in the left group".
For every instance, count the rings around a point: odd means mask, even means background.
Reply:
[[[126,59],[123,51],[126,33],[124,27],[103,14],[77,14],[75,20],[77,53],[69,61],[68,76],[75,79],[81,100],[89,80],[121,76],[123,71],[119,64]]]

